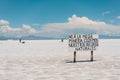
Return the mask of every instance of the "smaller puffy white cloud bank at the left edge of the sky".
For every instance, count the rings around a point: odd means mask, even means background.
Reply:
[[[21,28],[12,28],[8,21],[0,20],[0,35],[2,36],[20,37],[23,35],[34,34],[36,32],[37,31],[29,25],[23,24]]]

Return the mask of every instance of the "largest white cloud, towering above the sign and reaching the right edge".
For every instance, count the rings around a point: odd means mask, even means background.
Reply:
[[[120,35],[120,26],[106,24],[101,21],[93,21],[87,17],[77,17],[73,15],[65,23],[50,23],[44,25],[49,32],[59,32],[65,35],[71,33],[98,33],[106,35]]]

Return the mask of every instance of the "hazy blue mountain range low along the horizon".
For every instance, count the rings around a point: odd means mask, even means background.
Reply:
[[[120,36],[99,35],[99,38],[100,39],[120,39]],[[9,40],[9,39],[18,40],[20,38],[0,36],[0,40]],[[30,35],[30,36],[21,37],[21,39],[23,39],[23,40],[52,40],[52,39],[61,39],[61,38],[42,37],[42,36],[33,36],[33,35]],[[67,37],[64,38],[64,39],[67,39]]]

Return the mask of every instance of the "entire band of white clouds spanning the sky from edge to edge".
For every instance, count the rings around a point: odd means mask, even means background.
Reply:
[[[73,15],[64,23],[48,23],[40,30],[36,30],[29,25],[23,24],[20,28],[12,28],[9,22],[0,20],[0,35],[5,36],[49,36],[63,37],[69,34],[98,33],[102,35],[120,35],[120,25],[111,25],[102,21],[93,21],[87,17]]]

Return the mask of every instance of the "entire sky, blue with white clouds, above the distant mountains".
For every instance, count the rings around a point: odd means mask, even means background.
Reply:
[[[120,0],[0,0],[0,36],[120,36]]]

